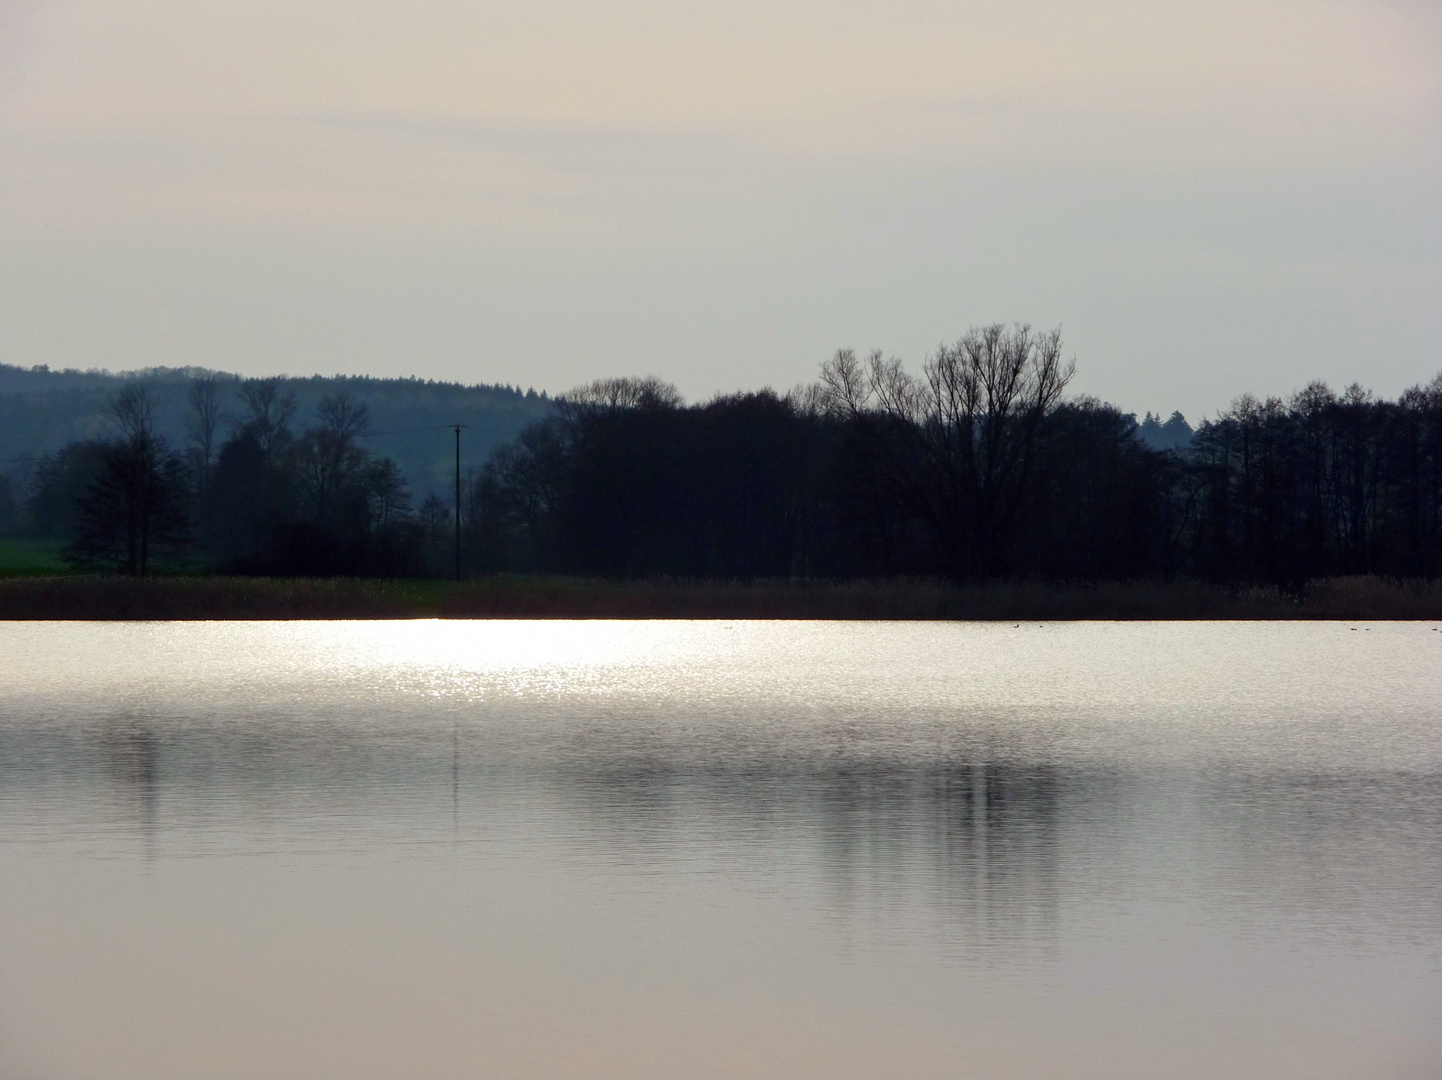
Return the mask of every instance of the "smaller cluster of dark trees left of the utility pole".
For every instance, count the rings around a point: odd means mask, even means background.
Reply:
[[[428,541],[451,513],[435,495],[417,506],[399,466],[362,444],[363,404],[330,394],[296,433],[294,394],[280,379],[249,379],[225,437],[225,389],[215,375],[192,381],[177,448],[159,431],[149,388],[124,385],[108,408],[108,438],[69,443],[30,466],[25,529],[66,539],[78,568],[123,574],[435,572]]]

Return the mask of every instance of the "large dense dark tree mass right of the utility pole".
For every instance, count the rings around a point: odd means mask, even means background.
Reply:
[[[1182,450],[1066,398],[1056,335],[988,327],[917,375],[839,353],[810,388],[682,407],[568,395],[466,486],[467,565],[619,578],[1120,581],[1298,591],[1435,578],[1442,379],[1240,398]]]

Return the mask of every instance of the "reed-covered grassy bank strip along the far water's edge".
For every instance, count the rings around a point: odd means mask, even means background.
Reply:
[[[609,581],[424,578],[0,578],[0,620],[800,619],[1442,620],[1442,583],[1325,578],[1301,596],[1201,581]]]

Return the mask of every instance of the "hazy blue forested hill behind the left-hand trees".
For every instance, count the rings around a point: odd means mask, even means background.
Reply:
[[[105,407],[115,391],[131,381],[144,382],[159,404],[160,433],[176,447],[186,440],[186,391],[199,368],[153,368],[141,372],[50,371],[0,363],[0,472],[4,461],[59,450],[66,443],[107,433]],[[241,404],[238,375],[224,375],[226,405],[235,422]],[[294,392],[296,430],[314,422],[316,402],[346,391],[366,407],[372,437],[365,446],[395,459],[417,497],[448,492],[456,463],[454,435],[448,431],[412,431],[441,424],[466,424],[461,467],[482,464],[492,448],[512,441],[534,420],[551,412],[545,394],[510,386],[461,385],[424,379],[372,379],[314,375],[281,381]],[[222,425],[222,437],[234,422]],[[399,434],[385,434],[399,433]]]

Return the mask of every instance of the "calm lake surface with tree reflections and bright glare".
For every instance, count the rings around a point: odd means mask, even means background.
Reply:
[[[0,1077],[1442,1077],[1433,624],[0,624]]]

